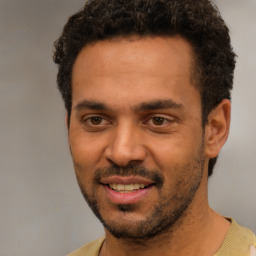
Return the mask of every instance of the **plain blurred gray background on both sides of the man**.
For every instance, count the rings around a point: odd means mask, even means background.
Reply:
[[[239,55],[213,208],[256,231],[256,0],[217,0]],[[103,234],[77,187],[52,43],[82,0],[0,0],[0,256],[61,256]]]

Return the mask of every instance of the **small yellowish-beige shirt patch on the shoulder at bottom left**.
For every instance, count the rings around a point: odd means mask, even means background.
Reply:
[[[100,248],[105,240],[105,237],[101,237],[95,241],[92,241],[76,251],[68,254],[67,256],[98,256]]]

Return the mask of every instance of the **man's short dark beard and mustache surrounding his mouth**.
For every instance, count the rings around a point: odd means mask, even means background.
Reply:
[[[112,165],[107,168],[97,169],[94,174],[92,190],[86,191],[84,185],[77,176],[80,190],[88,205],[98,217],[104,227],[116,238],[129,238],[138,241],[148,240],[159,234],[171,232],[178,220],[186,216],[186,211],[201,184],[204,162],[203,148],[193,159],[173,167],[172,173],[178,173],[175,185],[172,188],[164,188],[164,177],[158,170],[150,170],[138,165],[129,164],[126,167]],[[109,219],[105,217],[104,209],[101,209],[95,193],[95,186],[102,178],[111,175],[131,176],[139,175],[151,179],[159,191],[159,200],[153,202],[153,209],[145,216],[144,220],[132,221],[128,224],[122,222],[122,217]],[[168,193],[166,193],[166,191]],[[118,205],[120,214],[129,214],[135,210],[134,205]],[[121,216],[121,215],[120,215]]]

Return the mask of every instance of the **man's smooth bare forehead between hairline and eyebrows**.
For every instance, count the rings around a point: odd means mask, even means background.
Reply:
[[[72,101],[109,99],[115,104],[121,99],[137,104],[147,98],[171,97],[179,102],[184,94],[195,91],[192,63],[192,48],[179,36],[118,38],[89,44],[74,63]],[[115,102],[110,96],[115,96]]]

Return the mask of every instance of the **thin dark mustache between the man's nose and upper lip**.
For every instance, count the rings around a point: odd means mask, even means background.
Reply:
[[[95,171],[93,182],[99,184],[101,179],[108,178],[114,175],[126,176],[141,176],[152,180],[157,187],[162,187],[164,176],[156,169],[147,169],[143,166],[129,164],[127,166],[111,165],[105,168],[98,168]]]

